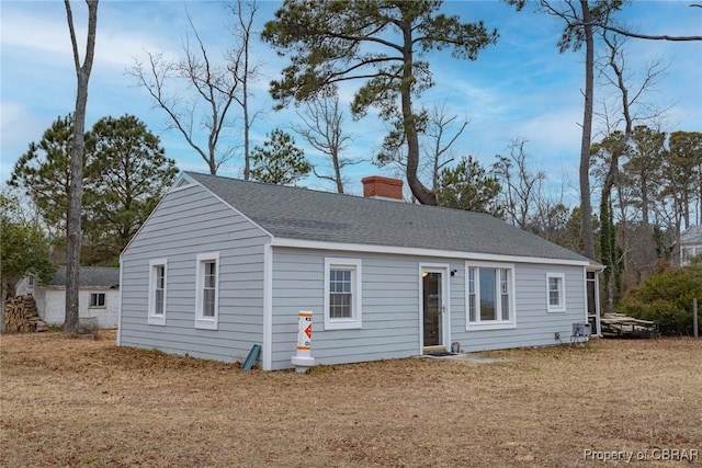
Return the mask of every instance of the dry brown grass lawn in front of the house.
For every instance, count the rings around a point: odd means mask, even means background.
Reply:
[[[2,467],[602,465],[586,450],[702,463],[702,340],[307,375],[118,349],[114,332],[3,334],[0,347]],[[658,449],[700,458],[657,460]]]

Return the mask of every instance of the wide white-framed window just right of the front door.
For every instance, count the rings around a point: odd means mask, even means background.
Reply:
[[[466,330],[514,327],[513,265],[466,262],[465,269]]]

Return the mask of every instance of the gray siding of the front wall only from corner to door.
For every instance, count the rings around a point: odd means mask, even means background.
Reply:
[[[324,330],[325,258],[362,260],[363,328]],[[273,249],[272,368],[291,367],[297,312],[310,310],[319,364],[407,357],[419,353],[418,263],[409,258]]]

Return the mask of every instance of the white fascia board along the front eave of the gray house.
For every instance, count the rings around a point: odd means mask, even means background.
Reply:
[[[296,249],[336,250],[343,252],[390,253],[396,255],[438,256],[454,260],[485,260],[489,262],[539,263],[548,265],[589,266],[590,262],[564,259],[542,259],[539,256],[500,255],[492,253],[461,252],[452,250],[418,249],[411,247],[371,246],[362,243],[320,242],[299,239],[273,238],[272,247]]]

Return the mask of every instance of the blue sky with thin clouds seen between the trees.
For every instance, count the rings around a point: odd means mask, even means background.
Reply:
[[[689,3],[635,0],[620,18],[647,34],[700,35],[702,9],[689,8]],[[279,4],[259,2],[259,26],[272,18]],[[72,8],[79,41],[84,44],[84,3],[73,1]],[[136,115],[160,136],[167,155],[176,159],[181,170],[207,172],[204,161],[183,138],[174,130],[166,130],[162,111],[152,109],[146,91],[135,87],[133,77],[125,72],[146,50],[180,56],[182,39],[189,32],[185,9],[211,54],[219,57],[217,53],[230,43],[226,26],[231,18],[218,1],[101,1],[86,124],[89,128],[103,116]],[[456,60],[446,53],[429,58],[437,85],[424,95],[423,103],[445,103],[448,114],[469,121],[453,147],[453,156],[473,156],[488,167],[495,155],[507,153],[510,141],[523,138],[530,165],[545,171],[550,184],[565,190],[568,199],[577,199],[584,65],[581,53],[558,53],[556,43],[563,30],[559,20],[535,12],[533,5],[517,12],[497,0],[448,1],[444,10],[460,14],[464,21],[483,20],[500,34],[497,45],[484,49],[477,61]],[[27,145],[38,141],[58,116],[72,112],[76,76],[61,1],[2,0],[0,28],[3,183]],[[702,42],[630,39],[626,47],[634,81],[641,79],[652,60],[668,65],[665,77],[645,95],[650,104],[669,106],[658,122],[661,128],[702,132]],[[263,44],[257,44],[254,50],[262,77],[256,84],[253,109],[263,115],[254,124],[252,140],[261,145],[265,134],[275,127],[292,133],[290,127],[297,117],[294,110],[271,110],[268,82],[279,77],[284,61]],[[352,91],[353,88],[344,89],[342,100],[348,102]],[[611,89],[599,88],[596,107],[601,111],[604,99],[611,95]],[[354,137],[346,152],[349,158],[371,159],[385,134],[385,127],[373,115],[359,122],[347,117],[346,128]],[[601,122],[596,124],[596,140],[603,130]],[[233,134],[229,139],[236,145],[240,137]],[[301,137],[295,139],[307,149]],[[307,149],[306,153],[314,163],[325,163],[313,151]],[[235,159],[219,174],[240,176],[241,164],[241,158]],[[371,163],[354,165],[346,173],[348,190],[360,193],[360,180],[370,174],[393,175],[393,170]],[[318,180],[304,185],[332,189]]]

